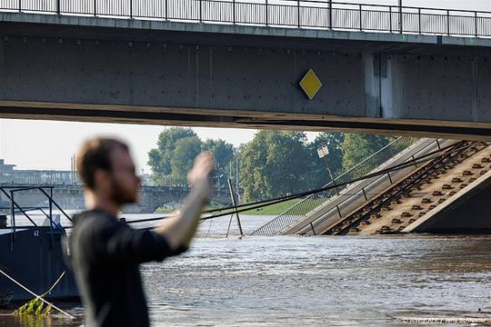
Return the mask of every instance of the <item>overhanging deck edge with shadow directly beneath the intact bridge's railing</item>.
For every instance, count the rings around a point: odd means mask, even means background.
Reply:
[[[316,50],[394,52],[411,54],[473,54],[472,47],[491,47],[491,38],[467,37],[458,35],[418,35],[397,34],[383,31],[355,31],[316,28],[285,28],[261,25],[224,25],[214,23],[157,21],[143,19],[121,19],[114,17],[75,16],[75,15],[40,15],[32,13],[0,12],[1,28],[4,35],[32,35],[34,25],[52,25],[52,28],[39,31],[39,36],[85,38],[98,35],[101,39],[134,39],[140,42],[195,43],[214,45],[250,45],[254,36],[256,47],[316,48]],[[13,25],[15,23],[15,25]],[[55,26],[71,26],[60,34]],[[15,27],[15,28],[14,28]],[[87,28],[90,28],[87,29]],[[95,28],[95,30],[94,30]],[[110,28],[110,30],[107,30]],[[115,30],[125,30],[124,34]],[[166,31],[170,34],[163,35]],[[218,35],[218,36],[217,36]],[[230,37],[235,35],[234,37]],[[239,36],[239,37],[237,37]],[[257,36],[261,36],[258,39]],[[271,43],[271,39],[275,41]],[[288,41],[293,39],[316,39],[322,44],[312,45],[308,42],[298,44]],[[346,43],[346,41],[349,41]],[[327,42],[327,43],[326,43]],[[428,47],[427,45],[459,45],[458,47]],[[470,47],[462,47],[469,45]]]

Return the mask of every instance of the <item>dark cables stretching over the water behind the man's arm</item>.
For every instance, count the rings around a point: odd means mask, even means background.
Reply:
[[[262,201],[258,201],[258,202],[254,202],[254,203],[243,203],[243,204],[238,204],[235,206],[227,206],[227,207],[223,207],[223,208],[206,210],[203,212],[203,214],[206,214],[206,213],[215,213],[215,214],[203,217],[200,219],[200,221],[203,222],[203,221],[207,221],[210,219],[228,216],[230,214],[235,214],[235,213],[244,213],[246,211],[267,207],[267,206],[277,204],[277,203],[284,203],[284,202],[298,199],[298,198],[302,198],[302,197],[305,197],[308,195],[326,192],[329,190],[333,190],[336,187],[345,186],[345,185],[350,184],[350,183],[356,183],[356,182],[360,182],[360,181],[363,181],[363,180],[366,180],[369,178],[382,176],[382,175],[385,175],[386,173],[393,173],[396,171],[400,171],[400,170],[403,170],[407,167],[417,165],[419,163],[427,163],[427,162],[430,162],[432,160],[435,160],[436,158],[450,155],[450,154],[453,154],[457,151],[462,151],[466,148],[470,148],[470,147],[474,146],[476,143],[466,144],[464,146],[462,144],[463,143],[461,142],[458,144],[447,145],[447,146],[442,147],[442,148],[440,148],[436,151],[433,151],[431,153],[423,154],[423,155],[418,156],[416,158],[411,158],[410,160],[407,160],[406,162],[397,163],[391,167],[388,167],[386,169],[382,169],[376,173],[368,173],[364,176],[355,178],[355,179],[347,181],[345,183],[336,183],[336,185],[334,185],[334,184],[328,185],[328,186],[325,186],[322,188],[306,191],[303,193],[296,193],[296,194],[291,194],[291,195],[280,196],[280,197],[276,197],[274,199],[262,200]],[[451,151],[446,152],[446,150],[449,150],[449,149],[451,149]],[[442,154],[442,153],[445,153],[445,154]],[[165,218],[168,218],[168,217],[155,217],[155,218],[141,219],[141,220],[131,221],[131,222],[127,222],[127,223],[147,223],[147,222],[154,222],[154,221],[163,220]]]

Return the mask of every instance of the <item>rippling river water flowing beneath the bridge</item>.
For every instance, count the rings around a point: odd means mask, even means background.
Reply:
[[[138,217],[127,217],[133,220]],[[242,217],[246,232],[270,217]],[[407,326],[491,317],[491,236],[237,236],[200,226],[189,252],[142,265],[153,326]],[[75,326],[54,317],[0,326]],[[5,313],[5,312],[4,312]]]

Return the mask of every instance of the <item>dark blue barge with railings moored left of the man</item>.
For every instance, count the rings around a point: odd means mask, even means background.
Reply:
[[[15,202],[15,193],[33,191],[45,194],[43,205],[22,207]],[[45,295],[45,299],[77,299],[75,279],[64,260],[65,228],[59,219],[60,215],[68,220],[71,218],[53,200],[53,187],[0,186],[0,192],[10,202],[10,207],[2,207],[4,214],[0,214],[0,270],[36,294],[49,290],[65,272],[55,288]],[[60,214],[54,215],[54,210]],[[42,213],[41,222],[34,212]],[[10,214],[7,216],[5,213]],[[19,216],[29,223],[17,225],[16,217]],[[32,294],[0,273],[0,305],[33,298]]]

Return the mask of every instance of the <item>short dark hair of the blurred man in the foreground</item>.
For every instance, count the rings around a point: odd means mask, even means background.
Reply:
[[[123,142],[104,137],[95,137],[82,145],[76,157],[76,169],[88,189],[93,190],[95,187],[97,169],[112,170],[111,153],[117,147],[129,151],[128,145]]]

